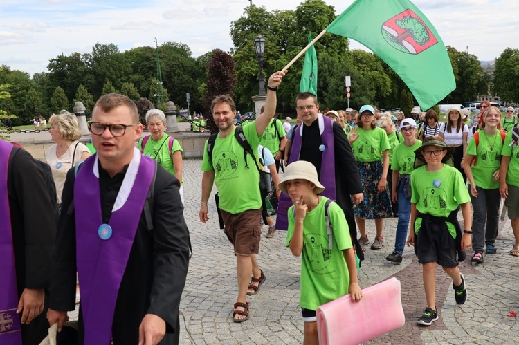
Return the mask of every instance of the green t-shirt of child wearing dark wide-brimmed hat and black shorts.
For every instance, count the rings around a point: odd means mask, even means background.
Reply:
[[[444,164],[439,171],[430,172],[426,165],[411,173],[411,203],[424,214],[446,217],[458,205],[471,201],[462,173]]]

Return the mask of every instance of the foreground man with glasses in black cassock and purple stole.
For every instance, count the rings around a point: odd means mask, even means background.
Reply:
[[[102,96],[89,129],[97,154],[66,177],[48,321],[61,331],[74,310],[77,270],[80,344],[178,344],[190,247],[179,180],[136,149],[128,97]]]

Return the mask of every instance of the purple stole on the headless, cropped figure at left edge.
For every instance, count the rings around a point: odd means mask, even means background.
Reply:
[[[11,213],[7,189],[8,163],[12,144],[0,139],[0,344],[21,345],[17,315],[15,248],[12,243]]]

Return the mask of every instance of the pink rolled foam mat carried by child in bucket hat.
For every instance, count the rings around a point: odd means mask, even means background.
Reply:
[[[317,309],[320,345],[362,344],[406,323],[397,278],[365,288],[362,296],[358,303],[346,295]]]

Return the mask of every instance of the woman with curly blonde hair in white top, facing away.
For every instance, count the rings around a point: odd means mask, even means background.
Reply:
[[[56,144],[48,148],[46,161],[53,172],[57,201],[61,203],[66,172],[81,160],[89,158],[91,153],[86,145],[78,142],[81,131],[78,118],[74,114],[67,112],[52,115],[48,123],[51,124],[48,130],[51,140]]]

